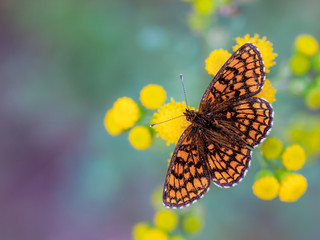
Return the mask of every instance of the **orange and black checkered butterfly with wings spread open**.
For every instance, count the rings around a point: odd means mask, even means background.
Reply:
[[[209,190],[240,182],[250,167],[252,148],[268,135],[273,109],[254,97],[263,87],[265,67],[258,48],[241,46],[205,91],[198,111],[186,109],[191,124],[173,152],[163,188],[169,208],[189,206]]]

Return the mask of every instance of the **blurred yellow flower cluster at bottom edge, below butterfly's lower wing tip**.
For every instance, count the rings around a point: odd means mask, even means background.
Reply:
[[[185,240],[184,237],[175,232],[191,235],[198,233],[202,229],[202,216],[197,211],[186,209],[177,214],[176,211],[163,207],[162,188],[157,188],[152,193],[151,202],[156,210],[153,222],[137,223],[133,227],[133,239]]]

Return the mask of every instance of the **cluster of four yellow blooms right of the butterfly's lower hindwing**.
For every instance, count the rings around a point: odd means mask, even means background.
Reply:
[[[261,170],[252,186],[253,193],[263,200],[272,200],[277,196],[283,202],[298,200],[307,189],[307,180],[292,171],[299,170],[306,161],[303,148],[292,144],[283,150],[282,142],[270,137],[263,143],[261,152],[276,172]],[[279,157],[281,161],[277,162]],[[280,162],[284,168],[279,167]]]

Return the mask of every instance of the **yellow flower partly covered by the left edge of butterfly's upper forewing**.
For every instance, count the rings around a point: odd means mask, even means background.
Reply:
[[[210,75],[216,75],[225,62],[231,57],[226,50],[213,50],[206,59],[206,70]]]

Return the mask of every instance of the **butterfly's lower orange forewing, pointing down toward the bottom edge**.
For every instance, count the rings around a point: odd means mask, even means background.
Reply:
[[[197,131],[190,125],[180,137],[165,179],[163,203],[167,207],[188,206],[210,186],[210,173],[198,145]]]

